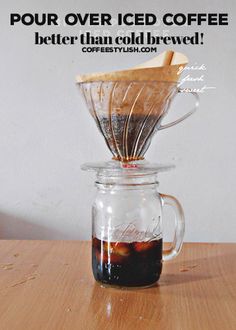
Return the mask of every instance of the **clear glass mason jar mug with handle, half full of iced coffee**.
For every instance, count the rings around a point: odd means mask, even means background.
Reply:
[[[95,280],[117,286],[155,284],[162,262],[180,252],[184,213],[178,200],[158,191],[157,173],[99,172],[92,206],[92,269]],[[174,239],[163,249],[163,208],[174,211]]]

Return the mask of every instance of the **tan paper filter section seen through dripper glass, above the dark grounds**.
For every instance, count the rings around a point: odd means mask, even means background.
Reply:
[[[93,81],[80,85],[91,114],[146,115],[161,112],[162,104],[176,91],[175,82]]]

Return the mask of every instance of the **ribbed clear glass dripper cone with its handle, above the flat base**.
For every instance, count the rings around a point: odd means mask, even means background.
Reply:
[[[96,121],[113,159],[130,162],[144,158],[154,134],[189,117],[194,108],[166,125],[162,120],[177,93],[176,82],[94,81],[78,83],[87,107]]]

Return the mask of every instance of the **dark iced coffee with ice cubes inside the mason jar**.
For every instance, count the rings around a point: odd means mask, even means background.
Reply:
[[[107,242],[93,238],[95,280],[121,286],[146,286],[159,280],[162,239],[150,242]]]

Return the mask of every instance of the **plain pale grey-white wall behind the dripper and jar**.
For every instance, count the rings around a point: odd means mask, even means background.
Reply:
[[[1,0],[0,6],[0,238],[90,237],[94,177],[80,166],[107,160],[110,154],[74,77],[128,68],[152,57],[87,55],[79,46],[37,47],[35,31],[76,35],[79,27],[10,27],[9,14],[135,11],[161,16],[169,11],[228,12],[230,26],[170,29],[175,34],[205,32],[204,45],[175,50],[186,53],[190,64],[204,63],[206,84],[216,90],[201,95],[201,107],[192,118],[158,133],[147,158],[177,166],[161,174],[160,190],[182,202],[186,241],[235,241],[235,1]],[[182,105],[179,101],[172,108],[170,119]]]

